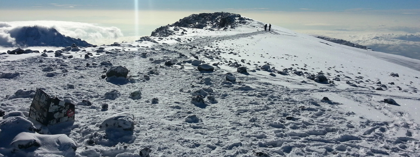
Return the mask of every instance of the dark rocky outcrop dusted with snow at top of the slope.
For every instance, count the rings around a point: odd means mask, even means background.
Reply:
[[[247,21],[252,20],[249,18],[241,17],[241,15],[234,13],[216,12],[192,14],[188,17],[180,19],[176,23],[157,28],[155,31],[152,31],[151,36],[165,37],[173,35],[174,31],[180,31],[180,29],[176,27],[221,31],[228,28],[235,28],[235,26],[238,24],[246,24]]]

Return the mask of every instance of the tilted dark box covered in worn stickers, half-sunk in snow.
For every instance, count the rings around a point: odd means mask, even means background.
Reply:
[[[74,121],[74,104],[66,103],[58,98],[50,98],[37,88],[29,110],[29,117],[43,125]]]

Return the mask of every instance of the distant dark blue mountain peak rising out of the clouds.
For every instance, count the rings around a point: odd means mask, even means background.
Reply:
[[[9,31],[10,36],[15,39],[15,45],[0,45],[0,46],[56,46],[66,47],[73,43],[77,46],[89,46],[81,39],[74,39],[64,36],[54,28],[47,28],[42,26],[23,26],[13,28]]]

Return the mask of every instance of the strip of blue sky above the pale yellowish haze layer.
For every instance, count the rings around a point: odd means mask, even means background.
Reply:
[[[51,5],[57,4],[57,5]],[[134,0],[0,0],[2,9],[131,10]],[[266,8],[267,11],[346,11],[420,9],[419,0],[139,0],[142,10],[224,10]],[[302,10],[309,9],[309,10]]]

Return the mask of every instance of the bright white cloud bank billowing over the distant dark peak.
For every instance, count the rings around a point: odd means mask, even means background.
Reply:
[[[47,28],[55,28],[58,32],[72,38],[80,38],[90,44],[98,43],[103,39],[117,39],[123,36],[121,30],[117,27],[103,27],[94,23],[80,23],[70,21],[0,21],[0,44],[14,44],[9,31],[22,26],[42,26]],[[8,43],[8,44],[6,44]]]

